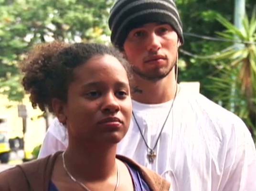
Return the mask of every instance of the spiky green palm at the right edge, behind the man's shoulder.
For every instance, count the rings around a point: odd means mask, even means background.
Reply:
[[[215,101],[233,109],[256,138],[256,8],[250,20],[245,16],[242,30],[221,15],[217,20],[226,28],[218,32],[224,41],[244,45],[239,49],[231,45],[227,51],[214,54],[214,59],[224,60],[226,64],[219,67],[219,76],[212,77],[213,85],[209,87],[218,95]]]

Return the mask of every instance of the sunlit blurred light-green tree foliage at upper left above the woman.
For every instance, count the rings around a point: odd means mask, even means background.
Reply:
[[[21,100],[18,63],[32,45],[109,42],[107,17],[113,0],[0,0],[0,94]]]

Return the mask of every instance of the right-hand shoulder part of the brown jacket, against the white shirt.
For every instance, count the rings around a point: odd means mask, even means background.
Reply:
[[[139,165],[134,160],[129,159],[125,156],[117,155],[117,159],[120,159],[121,161],[127,163],[133,169],[137,170],[141,174],[142,178],[148,184],[150,190],[152,190],[152,191],[169,191],[171,184],[167,180],[163,179],[156,172]]]

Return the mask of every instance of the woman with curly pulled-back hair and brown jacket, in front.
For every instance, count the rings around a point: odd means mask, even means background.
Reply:
[[[65,152],[0,173],[0,191],[168,191],[170,184],[122,156],[131,118],[128,64],[113,48],[61,42],[36,47],[23,62],[32,106],[67,127]]]

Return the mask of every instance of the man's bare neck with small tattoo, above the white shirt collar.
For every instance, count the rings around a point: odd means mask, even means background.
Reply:
[[[174,71],[156,82],[134,76],[135,83],[131,87],[132,99],[144,104],[160,104],[174,98],[177,84]]]

